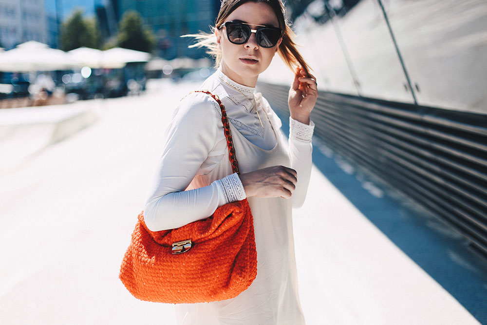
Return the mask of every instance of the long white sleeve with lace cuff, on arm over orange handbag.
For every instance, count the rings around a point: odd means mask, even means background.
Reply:
[[[166,134],[144,207],[149,229],[178,228],[208,217],[219,206],[245,198],[236,174],[185,191],[218,143],[217,134],[223,134],[219,110],[214,100],[204,94],[191,94],[181,101]]]

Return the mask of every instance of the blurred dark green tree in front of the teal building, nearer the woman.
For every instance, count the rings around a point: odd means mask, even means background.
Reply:
[[[142,25],[142,18],[136,11],[127,11],[120,21],[117,45],[126,49],[150,52],[154,48],[155,36]]]

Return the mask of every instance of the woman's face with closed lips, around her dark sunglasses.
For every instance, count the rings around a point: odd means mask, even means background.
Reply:
[[[255,25],[279,27],[276,14],[265,2],[246,2],[235,9],[225,22],[235,20],[250,24],[251,29],[257,29]],[[267,69],[281,43],[280,39],[274,47],[261,47],[257,44],[255,33],[252,33],[246,43],[233,44],[226,36],[226,27],[217,29],[215,34],[222,51],[223,73],[230,79],[250,87],[255,86],[259,74]]]

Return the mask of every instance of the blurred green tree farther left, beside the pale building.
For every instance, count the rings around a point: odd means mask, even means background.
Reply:
[[[76,10],[62,25],[61,49],[69,51],[81,46],[98,48],[99,33],[95,19],[84,19],[83,11]]]

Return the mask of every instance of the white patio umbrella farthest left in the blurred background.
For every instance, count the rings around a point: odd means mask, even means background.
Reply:
[[[70,69],[73,62],[66,52],[46,44],[28,41],[0,53],[0,71],[34,72]]]

